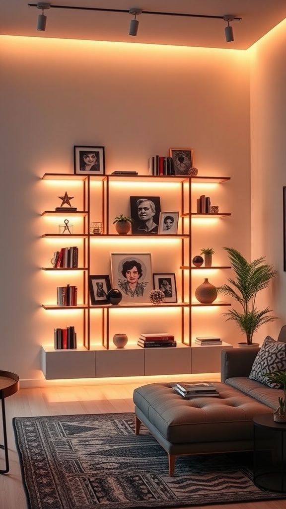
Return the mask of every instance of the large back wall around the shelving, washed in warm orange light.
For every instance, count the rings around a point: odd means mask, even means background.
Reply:
[[[250,256],[249,56],[7,36],[0,47],[0,368],[36,380],[44,292],[40,178],[73,173],[74,145],[105,146],[106,173],[146,173],[150,155],[192,148],[200,175],[232,179],[219,203],[232,216],[221,222],[218,256],[225,256],[222,245]],[[273,157],[269,162],[272,169]],[[208,240],[215,238],[212,232]],[[224,327],[228,342],[241,340],[233,324]]]

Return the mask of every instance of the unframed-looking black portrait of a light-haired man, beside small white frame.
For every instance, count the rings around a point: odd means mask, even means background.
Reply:
[[[159,196],[130,196],[133,235],[156,235],[161,206]]]

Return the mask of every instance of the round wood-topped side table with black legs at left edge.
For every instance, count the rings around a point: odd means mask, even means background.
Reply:
[[[3,423],[3,437],[4,445],[0,445],[5,453],[5,469],[0,470],[0,474],[7,474],[9,472],[9,458],[8,458],[8,443],[7,443],[7,428],[6,428],[6,414],[5,414],[5,398],[15,394],[19,390],[19,377],[16,373],[11,371],[0,370],[0,400],[2,403],[2,423]]]

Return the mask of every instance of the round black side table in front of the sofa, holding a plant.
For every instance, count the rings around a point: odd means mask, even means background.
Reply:
[[[286,423],[273,413],[253,417],[253,483],[258,488],[286,493]]]

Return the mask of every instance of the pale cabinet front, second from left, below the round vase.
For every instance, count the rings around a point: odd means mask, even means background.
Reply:
[[[144,351],[119,349],[95,353],[96,378],[142,375],[144,375]]]

